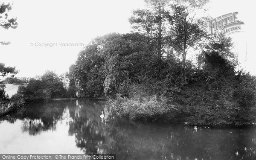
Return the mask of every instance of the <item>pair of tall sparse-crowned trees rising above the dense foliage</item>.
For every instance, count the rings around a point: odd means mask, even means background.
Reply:
[[[195,17],[208,1],[145,0],[147,9],[135,10],[130,23],[135,32],[148,36],[159,59],[174,49],[184,64],[188,50],[206,36],[204,23]]]

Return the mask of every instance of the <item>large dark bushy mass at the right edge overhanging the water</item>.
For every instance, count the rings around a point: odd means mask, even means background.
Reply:
[[[251,125],[255,122],[256,80],[236,72],[216,52],[206,54],[204,70],[197,70],[188,84],[175,94],[188,124]]]

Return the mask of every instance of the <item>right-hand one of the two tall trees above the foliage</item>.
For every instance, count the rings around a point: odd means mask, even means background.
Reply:
[[[196,20],[194,8],[189,6],[172,5],[172,15],[169,23],[172,25],[170,32],[170,45],[178,55],[181,55],[183,66],[186,62],[188,50],[207,36],[201,20]]]

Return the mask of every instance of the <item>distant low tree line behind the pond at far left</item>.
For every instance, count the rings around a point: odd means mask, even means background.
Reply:
[[[47,70],[43,76],[36,76],[35,78],[17,78],[14,77],[18,71],[15,67],[6,67],[5,64],[0,63],[0,76],[5,77],[4,81],[0,81],[0,102],[1,101],[18,101],[20,99],[26,102],[44,101],[53,98],[67,98],[73,95],[64,88],[63,76],[58,76],[55,72]],[[6,96],[5,84],[24,84],[21,85],[17,94],[12,97]]]

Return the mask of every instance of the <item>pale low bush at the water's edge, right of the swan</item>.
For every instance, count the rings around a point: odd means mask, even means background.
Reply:
[[[177,107],[169,105],[166,98],[157,98],[155,95],[142,99],[136,97],[128,99],[117,95],[116,100],[111,102],[111,111],[116,116],[132,121],[170,122],[177,114]]]

